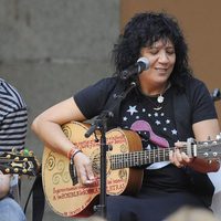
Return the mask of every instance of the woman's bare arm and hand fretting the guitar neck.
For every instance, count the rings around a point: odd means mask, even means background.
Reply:
[[[220,134],[220,127],[218,119],[208,119],[193,124],[192,126],[194,137],[198,141],[204,141],[210,137],[215,139],[215,136]],[[170,161],[177,167],[188,166],[200,172],[212,172],[218,171],[220,164],[218,160],[211,162],[200,158],[189,158],[185,152],[181,151],[182,143],[176,143],[178,147],[173,152],[170,152]]]

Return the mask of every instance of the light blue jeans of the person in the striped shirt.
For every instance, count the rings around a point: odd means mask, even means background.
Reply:
[[[0,200],[1,221],[27,221],[20,204],[10,197]]]

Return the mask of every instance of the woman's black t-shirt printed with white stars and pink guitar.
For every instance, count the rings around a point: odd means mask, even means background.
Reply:
[[[115,84],[115,77],[104,78],[74,95],[78,108],[86,118],[90,119],[103,110]],[[213,102],[201,81],[190,78],[185,87],[191,108],[190,125],[217,118]],[[173,114],[176,112],[172,104],[173,93],[176,93],[176,88],[171,85],[164,93],[164,102],[159,104],[157,97],[147,97],[138,90],[133,91],[122,102],[117,126],[136,130],[140,135],[144,149],[172,147],[178,140],[179,133]],[[186,190],[190,185],[186,171],[171,164],[146,171],[148,175],[147,186],[156,190],[180,191]]]

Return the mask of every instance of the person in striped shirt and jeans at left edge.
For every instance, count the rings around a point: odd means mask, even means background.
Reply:
[[[28,110],[24,101],[13,86],[0,78],[0,155],[24,148],[27,127]],[[20,204],[10,197],[14,180],[12,177],[0,171],[0,220],[25,221]]]

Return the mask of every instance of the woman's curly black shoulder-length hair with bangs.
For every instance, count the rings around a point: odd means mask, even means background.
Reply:
[[[171,82],[182,75],[192,75],[188,64],[188,46],[177,20],[165,12],[141,12],[126,24],[124,33],[114,45],[113,62],[115,74],[135,64],[140,49],[150,46],[158,40],[170,40],[175,46],[176,63],[170,75]]]

